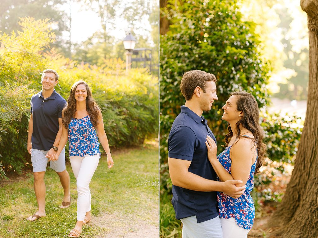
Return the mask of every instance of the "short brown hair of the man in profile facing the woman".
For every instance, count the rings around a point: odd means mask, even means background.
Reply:
[[[198,86],[205,93],[206,81],[216,82],[214,74],[206,73],[202,70],[191,70],[185,72],[181,79],[180,89],[185,100],[190,100],[194,94],[194,89]]]

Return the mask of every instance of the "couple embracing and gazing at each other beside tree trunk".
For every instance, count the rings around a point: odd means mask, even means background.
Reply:
[[[250,192],[266,151],[259,108],[251,94],[231,94],[222,107],[229,123],[226,148],[217,156],[215,136],[202,116],[218,100],[216,81],[200,70],[183,74],[186,102],[169,133],[172,205],[183,238],[247,238],[254,221]]]

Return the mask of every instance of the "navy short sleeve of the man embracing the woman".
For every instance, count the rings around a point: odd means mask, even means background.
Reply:
[[[194,131],[187,126],[178,127],[169,134],[168,156],[192,161],[196,146],[197,137]]]

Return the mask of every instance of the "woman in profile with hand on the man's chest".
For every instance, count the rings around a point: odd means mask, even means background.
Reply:
[[[225,136],[225,150],[217,157],[217,146],[207,136],[208,159],[218,175],[218,181],[242,180],[245,192],[232,198],[217,192],[219,216],[224,238],[247,238],[252,228],[255,209],[250,192],[254,186],[254,173],[263,164],[266,145],[264,131],[259,126],[259,108],[252,94],[233,92],[222,107],[222,119],[229,122]]]

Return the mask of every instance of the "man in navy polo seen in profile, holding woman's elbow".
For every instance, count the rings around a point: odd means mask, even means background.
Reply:
[[[223,238],[216,191],[239,197],[242,181],[217,182],[207,157],[206,137],[216,139],[202,116],[211,110],[216,94],[213,74],[192,70],[183,74],[181,92],[185,106],[172,124],[169,140],[169,174],[172,181],[172,205],[176,219],[183,223],[183,238]]]

